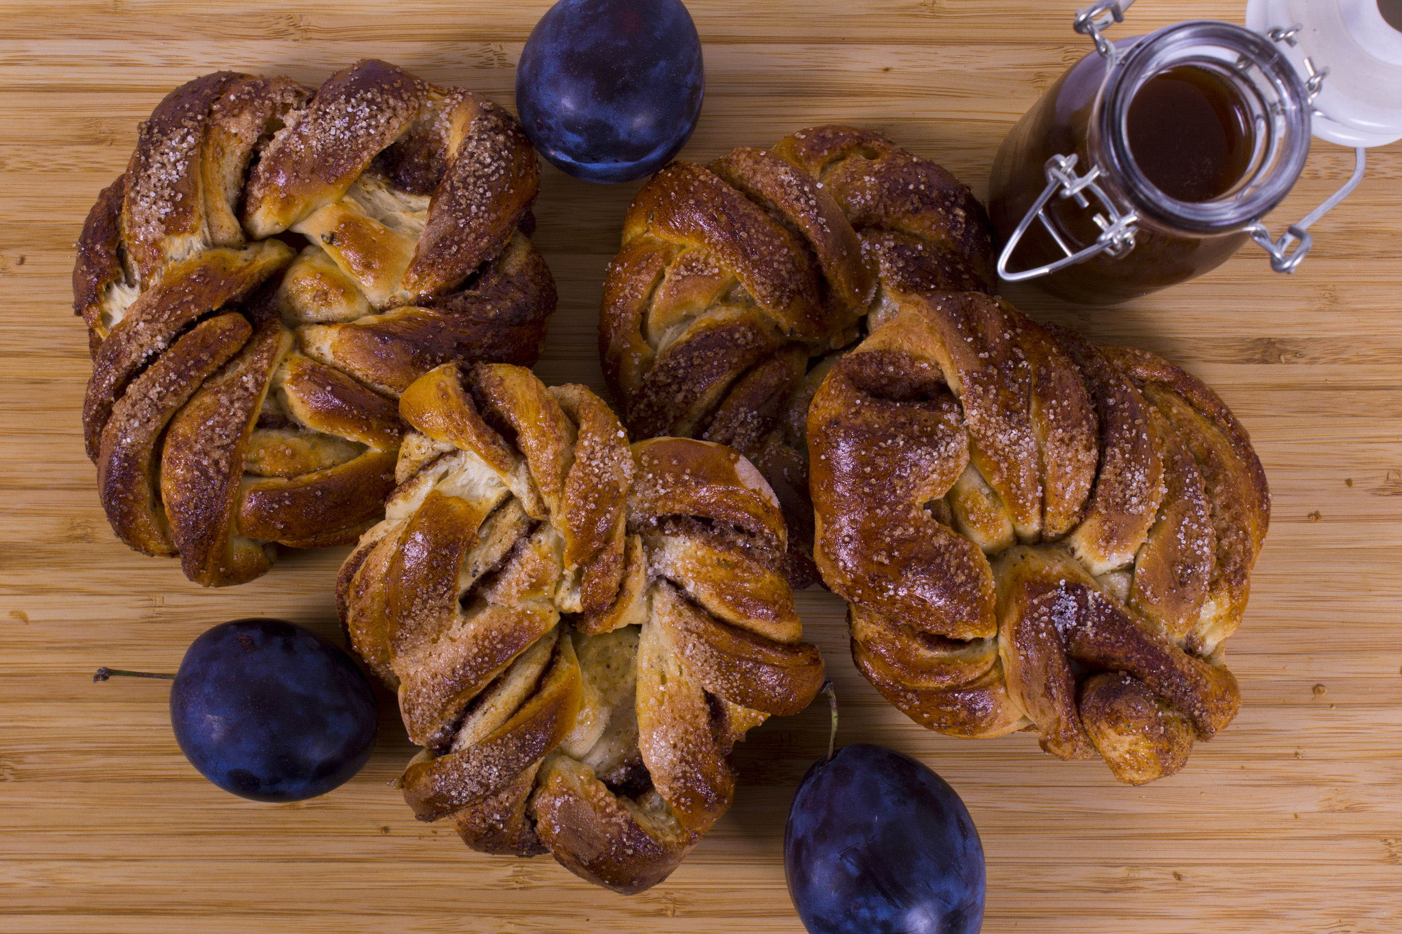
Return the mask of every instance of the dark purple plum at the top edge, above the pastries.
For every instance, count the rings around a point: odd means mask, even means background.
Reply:
[[[590,182],[631,182],[672,161],[704,92],[701,38],[681,0],[559,0],[516,67],[526,136]]]

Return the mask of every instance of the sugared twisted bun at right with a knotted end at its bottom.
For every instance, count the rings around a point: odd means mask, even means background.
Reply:
[[[939,732],[1178,772],[1239,704],[1223,643],[1270,521],[1245,430],[1164,360],[979,293],[869,325],[808,413],[858,668]]]

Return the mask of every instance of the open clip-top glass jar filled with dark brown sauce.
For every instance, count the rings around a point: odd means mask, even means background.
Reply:
[[[1318,91],[1277,42],[1231,22],[1110,43],[1095,17],[1122,8],[1078,14],[1098,52],[1022,116],[990,179],[1000,276],[1089,304],[1200,276],[1260,239],[1309,153]]]

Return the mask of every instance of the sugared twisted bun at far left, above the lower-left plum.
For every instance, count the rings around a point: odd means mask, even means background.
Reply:
[[[205,585],[258,577],[275,543],[355,542],[394,487],[398,393],[447,360],[540,354],[537,188],[510,115],[384,62],[172,91],[73,270],[118,538]]]

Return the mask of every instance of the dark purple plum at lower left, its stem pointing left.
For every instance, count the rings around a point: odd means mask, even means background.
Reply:
[[[254,801],[301,801],[350,779],[380,725],[350,657],[280,619],[236,619],[185,650],[171,686],[175,741],[200,774]]]

